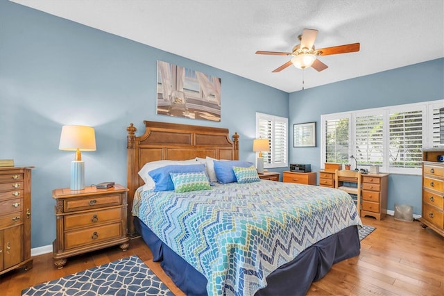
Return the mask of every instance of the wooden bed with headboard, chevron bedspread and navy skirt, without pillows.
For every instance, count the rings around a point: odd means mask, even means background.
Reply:
[[[359,254],[361,220],[341,190],[268,180],[187,192],[147,189],[139,176],[146,163],[237,163],[239,135],[231,140],[228,129],[144,124],[140,136],[133,124],[127,128],[128,233],[142,236],[187,295],[305,295],[334,263]]]

